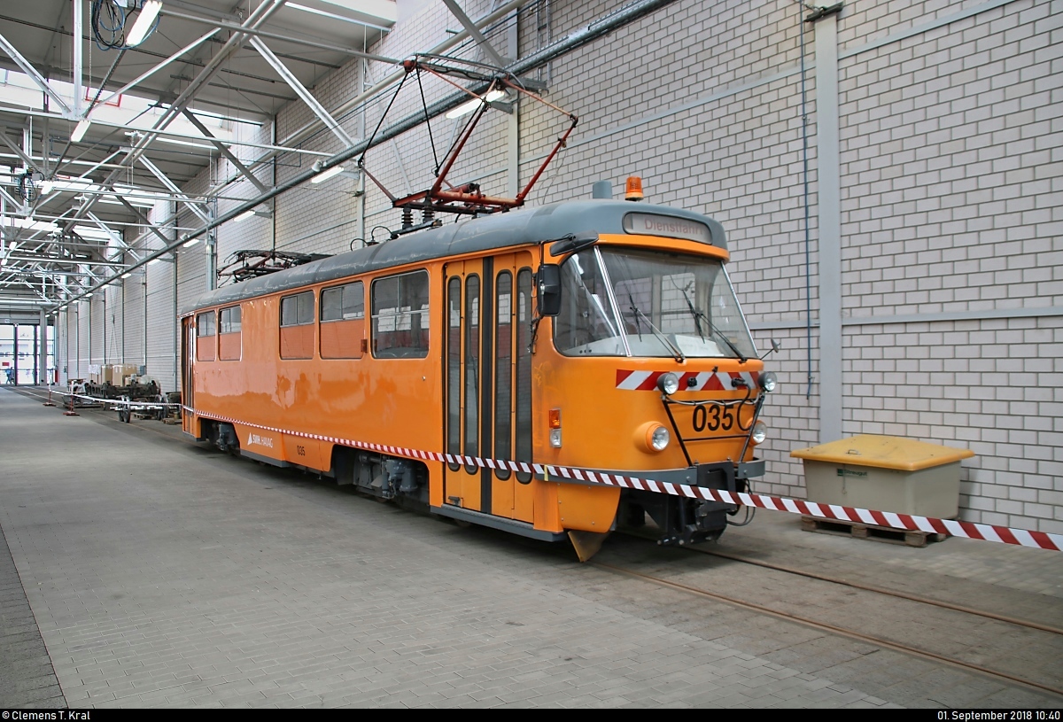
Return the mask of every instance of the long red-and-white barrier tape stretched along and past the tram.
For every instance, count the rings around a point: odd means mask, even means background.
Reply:
[[[764,509],[775,509],[777,511],[789,511],[806,517],[817,517],[820,519],[837,519],[839,521],[851,521],[861,524],[874,524],[876,526],[889,526],[891,528],[905,530],[908,532],[928,532],[934,534],[948,534],[955,537],[965,537],[967,539],[982,539],[984,541],[996,541],[1005,544],[1018,544],[1020,547],[1033,547],[1036,549],[1049,549],[1057,552],[1063,551],[1063,535],[1048,534],[1046,532],[1030,532],[1022,528],[1011,528],[1008,526],[995,526],[992,524],[975,524],[969,521],[955,521],[951,519],[933,519],[931,517],[916,517],[908,514],[896,514],[894,511],[874,511],[851,506],[836,506],[833,504],[816,504],[815,502],[800,501],[797,499],[787,499],[784,497],[765,497],[759,493],[731,493],[721,489],[709,489],[703,486],[688,486],[686,484],[675,484],[673,482],[658,482],[653,478],[638,478],[625,476],[623,474],[609,474],[602,471],[591,471],[590,469],[577,469],[570,467],[559,467],[550,464],[534,464],[525,461],[511,461],[493,458],[480,458],[478,456],[465,456],[460,454],[444,454],[437,451],[421,451],[418,449],[407,449],[405,447],[392,447],[384,443],[369,443],[353,439],[337,438],[334,436],[321,436],[318,434],[306,434],[304,432],[292,432],[275,426],[264,426],[255,423],[248,423],[239,419],[232,419],[214,414],[196,412],[188,406],[184,407],[190,414],[238,423],[242,426],[260,429],[263,431],[276,434],[287,434],[303,438],[317,439],[339,443],[354,449],[365,449],[376,451],[392,456],[404,456],[406,458],[417,458],[424,461],[442,461],[446,464],[462,464],[465,466],[475,466],[488,469],[510,469],[512,471],[535,472],[550,481],[571,480],[586,484],[602,484],[604,486],[614,486],[622,489],[638,489],[640,491],[653,491],[656,493],[667,493],[673,497],[686,497],[688,499],[702,499],[705,501],[718,501],[736,506],[759,506]]]

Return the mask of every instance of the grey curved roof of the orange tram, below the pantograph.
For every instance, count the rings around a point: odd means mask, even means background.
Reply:
[[[698,213],[667,205],[635,204],[627,201],[562,201],[427,229],[251,281],[223,286],[200,296],[190,304],[184,304],[181,315],[189,314],[197,308],[234,303],[384,268],[539,244],[562,238],[570,233],[595,232],[623,235],[626,233],[624,216],[629,213],[670,216],[704,223],[708,225],[711,236],[706,245],[727,249],[723,225]]]

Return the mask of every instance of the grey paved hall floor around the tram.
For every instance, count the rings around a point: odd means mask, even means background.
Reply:
[[[157,421],[65,417],[0,389],[0,707],[1063,703],[229,457]],[[720,549],[1063,623],[1058,552],[911,549],[765,513]],[[739,594],[820,593],[638,539],[610,538],[598,559]],[[949,624],[927,634],[965,636]],[[1059,675],[1061,648],[1024,649],[1007,654]]]

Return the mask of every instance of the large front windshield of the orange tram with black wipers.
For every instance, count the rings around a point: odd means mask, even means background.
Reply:
[[[757,356],[721,261],[601,246],[561,266],[554,345],[568,356]]]

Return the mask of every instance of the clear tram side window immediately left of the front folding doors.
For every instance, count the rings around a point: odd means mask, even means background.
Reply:
[[[373,356],[428,355],[428,272],[377,279],[372,286]]]

